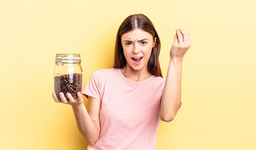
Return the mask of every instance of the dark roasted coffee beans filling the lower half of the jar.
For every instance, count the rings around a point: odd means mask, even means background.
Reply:
[[[54,77],[54,89],[57,97],[60,99],[59,93],[63,92],[66,99],[67,93],[70,93],[74,99],[77,98],[77,92],[82,92],[82,74],[64,74]]]

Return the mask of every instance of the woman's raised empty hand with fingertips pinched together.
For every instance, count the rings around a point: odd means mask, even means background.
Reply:
[[[171,59],[181,58],[183,59],[186,51],[191,47],[191,41],[189,34],[183,29],[176,29],[176,34],[174,36],[174,42],[171,47],[170,57]]]

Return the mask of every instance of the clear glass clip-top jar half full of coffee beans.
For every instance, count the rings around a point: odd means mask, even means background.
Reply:
[[[74,99],[77,92],[82,93],[83,78],[80,54],[56,54],[54,67],[54,91],[60,99],[59,93],[70,93]],[[68,98],[67,98],[68,99]]]

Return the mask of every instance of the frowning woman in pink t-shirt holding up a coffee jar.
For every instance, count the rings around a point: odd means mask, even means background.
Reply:
[[[177,29],[170,51],[166,79],[158,56],[160,40],[143,14],[128,16],[119,27],[114,66],[95,71],[83,95],[78,92],[56,102],[72,105],[88,150],[155,150],[160,121],[172,121],[181,105],[182,60],[191,47],[190,37]]]

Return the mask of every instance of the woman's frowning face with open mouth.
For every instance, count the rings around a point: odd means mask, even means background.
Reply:
[[[151,50],[155,46],[153,36],[141,29],[134,29],[121,36],[121,43],[126,58],[126,67],[133,70],[148,69]]]

